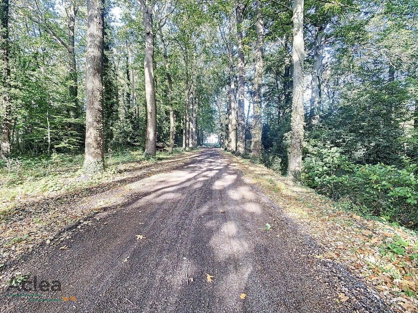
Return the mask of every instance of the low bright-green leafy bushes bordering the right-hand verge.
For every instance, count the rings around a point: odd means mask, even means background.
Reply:
[[[418,227],[417,164],[402,159],[403,166],[349,162],[333,146],[309,147],[303,161],[303,182],[344,207],[364,214],[389,217]]]

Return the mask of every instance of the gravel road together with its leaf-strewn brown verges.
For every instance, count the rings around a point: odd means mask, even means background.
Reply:
[[[8,245],[1,279],[36,275],[38,281],[59,280],[61,291],[17,297],[10,294],[19,289],[4,287],[0,311],[415,310],[412,233],[338,211],[329,200],[219,149],[165,162],[71,201],[44,200],[46,220],[62,212],[79,219],[45,222],[38,240]],[[13,236],[22,236],[25,222],[39,216],[30,204],[22,212],[4,222],[2,232],[12,227]],[[386,260],[376,249],[397,236],[407,242],[406,253]],[[400,277],[385,279],[391,272],[383,261]]]

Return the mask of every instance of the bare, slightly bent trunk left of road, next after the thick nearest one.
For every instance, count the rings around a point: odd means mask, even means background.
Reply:
[[[157,131],[157,104],[155,103],[154,85],[154,33],[153,7],[148,0],[140,0],[145,28],[145,98],[147,101],[147,135],[145,154],[155,156],[155,136]]]

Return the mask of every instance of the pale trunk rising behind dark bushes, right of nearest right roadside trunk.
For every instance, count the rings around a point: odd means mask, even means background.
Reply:
[[[314,51],[314,61],[312,64],[312,73],[311,73],[311,108],[309,112],[309,118],[317,119],[319,108],[321,106],[321,77],[322,72],[324,71],[324,66],[322,60],[324,60],[324,42],[325,42],[325,32],[324,26],[315,26],[315,51]]]

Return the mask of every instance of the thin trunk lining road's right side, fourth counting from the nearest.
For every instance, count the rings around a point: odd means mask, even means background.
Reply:
[[[232,33],[232,22],[229,20],[229,33]],[[232,42],[228,43],[229,56],[229,121],[228,121],[228,149],[232,152],[237,151],[237,102],[235,100],[235,77],[234,77],[234,55]]]

